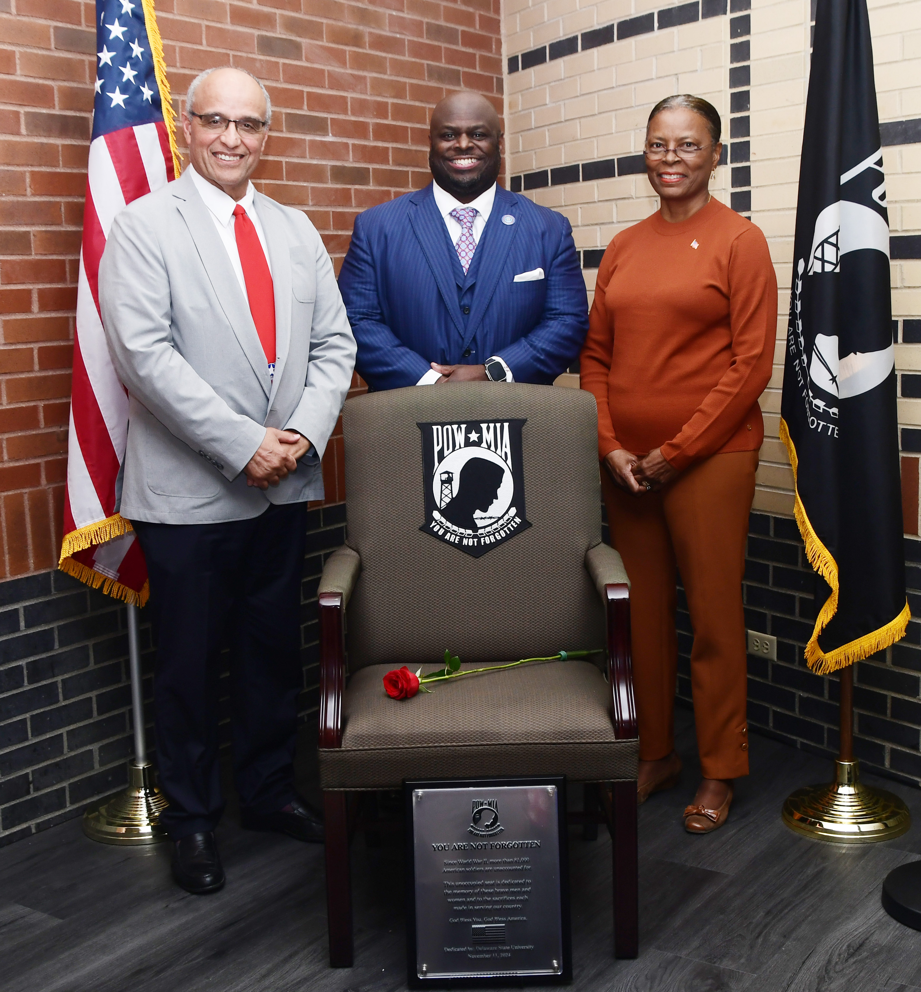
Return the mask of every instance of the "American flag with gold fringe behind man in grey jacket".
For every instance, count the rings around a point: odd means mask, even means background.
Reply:
[[[143,606],[147,566],[131,525],[116,513],[128,397],[109,358],[98,273],[118,211],[178,175],[173,106],[153,0],[96,0],[96,48],[58,567]]]

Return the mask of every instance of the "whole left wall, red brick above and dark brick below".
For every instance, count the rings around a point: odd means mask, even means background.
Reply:
[[[265,80],[275,116],[257,186],[307,213],[337,269],[358,212],[429,182],[427,124],[446,92],[476,89],[504,110],[500,0],[157,0],[157,10],[177,106],[211,65]],[[131,750],[124,609],[51,570],[93,24],[89,0],[0,0],[0,844],[124,785]],[[338,429],[323,477],[302,594],[303,713],[315,705],[322,555],[343,540]]]

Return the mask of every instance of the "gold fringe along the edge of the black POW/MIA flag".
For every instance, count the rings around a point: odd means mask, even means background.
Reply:
[[[826,599],[819,615],[816,617],[815,627],[812,630],[812,637],[806,645],[806,663],[817,675],[827,676],[839,669],[847,668],[855,662],[860,662],[863,658],[874,655],[877,651],[888,648],[890,644],[895,644],[905,636],[908,621],[911,619],[911,610],[908,608],[906,600],[901,613],[890,620],[885,626],[878,630],[863,634],[856,641],[850,641],[839,648],[835,648],[826,654],[819,647],[819,635],[829,625],[832,617],[838,612],[838,562],[832,558],[831,553],[819,540],[809,517],[806,515],[806,508],[799,498],[799,484],[797,481],[797,468],[799,459],[796,456],[796,448],[793,446],[793,439],[783,418],[780,418],[780,439],[786,445],[787,454],[790,457],[790,465],[793,468],[794,503],[793,515],[799,527],[799,533],[803,537],[806,546],[806,558],[813,568],[825,579],[832,590],[832,594]]]

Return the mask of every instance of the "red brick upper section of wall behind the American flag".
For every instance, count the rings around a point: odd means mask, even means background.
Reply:
[[[503,110],[500,0],[158,0],[176,104],[203,68],[264,79],[257,174],[337,264],[356,213],[424,186],[433,105]],[[95,67],[94,4],[0,0],[0,579],[58,560],[73,308]],[[341,471],[341,441],[326,479]],[[332,486],[329,497],[343,493]]]

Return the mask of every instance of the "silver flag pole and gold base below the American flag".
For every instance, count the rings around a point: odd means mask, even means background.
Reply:
[[[160,814],[168,806],[154,784],[154,766],[147,759],[144,739],[144,682],[141,677],[141,637],[138,607],[128,606],[128,665],[131,670],[131,719],[134,760],[128,762],[128,788],[107,803],[87,809],[83,832],[104,844],[156,844],[167,839]]]

